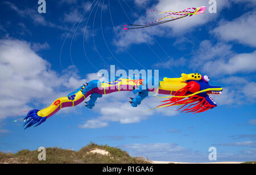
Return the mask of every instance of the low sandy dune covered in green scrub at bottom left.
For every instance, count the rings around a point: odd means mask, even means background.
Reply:
[[[92,153],[100,149],[108,151],[108,155]],[[126,151],[119,148],[101,146],[90,143],[79,151],[64,150],[63,148],[46,148],[46,160],[38,160],[38,150],[21,150],[18,153],[0,152],[0,163],[10,164],[148,164],[149,160],[143,157],[131,157]]]

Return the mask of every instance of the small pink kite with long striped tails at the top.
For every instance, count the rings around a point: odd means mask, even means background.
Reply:
[[[137,29],[137,28],[145,28],[145,27],[151,27],[154,25],[159,25],[159,24],[163,24],[163,23],[168,23],[168,22],[172,22],[174,20],[177,19],[181,19],[181,18],[185,18],[187,16],[193,16],[193,15],[199,15],[199,14],[204,14],[205,9],[207,7],[202,6],[202,7],[197,7],[197,8],[186,8],[183,11],[157,11],[157,10],[150,10],[147,12],[160,12],[159,14],[167,14],[166,16],[164,16],[161,19],[155,20],[154,22],[150,22],[150,23],[146,23],[144,25],[139,25],[139,24],[126,24],[123,25],[123,29],[127,30],[127,29]],[[171,18],[171,19],[167,19],[167,18]],[[167,19],[167,20],[164,20]],[[129,28],[127,28],[126,26],[130,26]]]

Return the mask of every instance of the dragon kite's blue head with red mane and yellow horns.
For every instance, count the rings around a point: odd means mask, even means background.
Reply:
[[[210,86],[210,78],[207,75],[201,76],[198,73],[183,75],[185,76],[182,78],[187,85],[176,91],[174,96],[169,97],[168,100],[162,101],[165,104],[158,107],[182,105],[178,110],[182,109],[182,112],[200,113],[217,106],[209,95],[220,95],[222,87]]]

